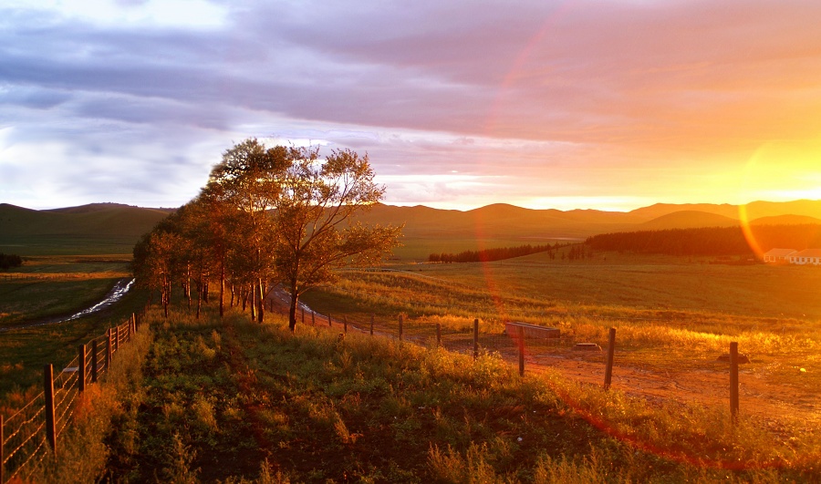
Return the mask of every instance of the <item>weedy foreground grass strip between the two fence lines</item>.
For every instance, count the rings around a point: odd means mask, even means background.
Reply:
[[[386,338],[277,316],[154,310],[100,475],[120,482],[781,482],[821,479],[817,435],[521,378]],[[783,428],[790,431],[789,428]],[[57,473],[57,471],[54,471]]]

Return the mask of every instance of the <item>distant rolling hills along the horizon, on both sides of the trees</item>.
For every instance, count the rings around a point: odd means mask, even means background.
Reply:
[[[171,211],[118,203],[36,211],[2,203],[0,252],[130,252],[140,235],[150,232]],[[821,201],[754,201],[746,206],[746,211],[753,224],[821,223]],[[731,227],[739,225],[739,218],[738,206],[728,204],[657,203],[620,212],[534,210],[497,203],[471,211],[379,204],[361,220],[404,223],[406,248],[400,252],[421,258],[440,245],[447,251],[474,250],[480,246],[580,240],[605,232]]]

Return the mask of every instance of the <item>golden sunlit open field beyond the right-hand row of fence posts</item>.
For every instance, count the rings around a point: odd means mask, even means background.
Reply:
[[[529,361],[598,385],[604,355],[580,355],[570,346],[607,347],[608,328],[615,327],[614,386],[650,399],[722,407],[727,366],[717,358],[736,341],[752,359],[742,367],[745,411],[821,426],[821,303],[811,290],[821,287],[821,271],[607,258],[562,263],[536,254],[503,263],[348,272],[337,287],[304,301],[350,321],[375,314],[394,332],[404,314],[406,333],[427,338],[437,323],[469,335],[473,318],[480,318],[480,343],[486,338],[485,347],[503,354],[514,351],[510,342],[499,343],[505,320],[557,327],[566,341],[529,353]]]

